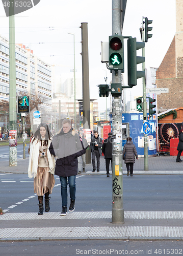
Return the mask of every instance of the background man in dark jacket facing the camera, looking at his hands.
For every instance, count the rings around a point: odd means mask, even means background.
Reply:
[[[101,147],[102,147],[102,139],[98,135],[98,131],[94,131],[94,136],[91,139],[91,152],[92,152],[92,165],[94,173],[97,168],[97,173],[100,171],[100,156],[101,156]],[[97,160],[97,166],[95,165],[95,157]]]

